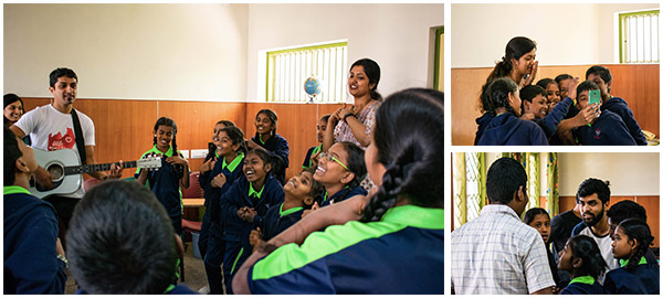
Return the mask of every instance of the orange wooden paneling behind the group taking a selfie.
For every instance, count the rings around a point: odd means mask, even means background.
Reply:
[[[585,81],[585,73],[591,65],[540,66],[537,77],[570,74]],[[660,137],[660,75],[659,64],[607,64],[613,83],[611,94],[623,97],[642,129]],[[472,146],[476,134],[475,119],[481,116],[478,96],[493,67],[451,70],[451,117],[452,145]]]

